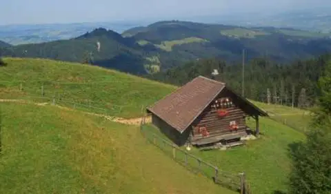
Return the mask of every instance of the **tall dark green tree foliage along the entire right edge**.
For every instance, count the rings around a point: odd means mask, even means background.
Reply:
[[[331,64],[319,79],[321,96],[307,142],[292,146],[292,194],[331,194]]]

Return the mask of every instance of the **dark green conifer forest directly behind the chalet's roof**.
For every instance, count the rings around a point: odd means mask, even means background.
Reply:
[[[245,64],[244,95],[250,99],[267,101],[269,88],[273,101],[291,105],[294,92],[294,106],[311,106],[319,96],[317,81],[323,75],[326,64],[330,62],[331,55],[321,55],[315,59],[298,60],[283,65],[274,64],[265,58],[252,59]],[[225,82],[237,93],[242,93],[242,64],[228,64],[219,59],[191,61],[184,66],[146,77],[181,86],[199,75],[211,77],[214,69],[219,71],[215,79]]]

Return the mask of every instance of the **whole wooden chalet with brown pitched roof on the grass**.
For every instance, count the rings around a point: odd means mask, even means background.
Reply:
[[[157,101],[147,112],[152,124],[178,146],[238,142],[252,131],[245,117],[256,120],[254,132],[259,135],[259,116],[268,116],[225,83],[202,76]]]

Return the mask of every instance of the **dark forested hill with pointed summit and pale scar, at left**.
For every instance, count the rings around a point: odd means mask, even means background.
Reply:
[[[145,74],[143,64],[146,64],[148,56],[145,52],[153,53],[153,49],[140,46],[134,39],[124,38],[112,30],[98,28],[74,39],[12,46],[0,54],[77,61]]]

